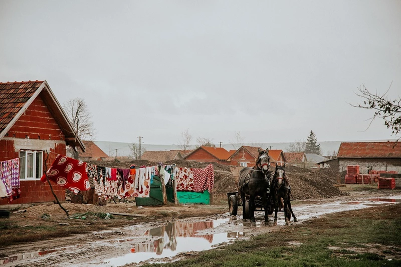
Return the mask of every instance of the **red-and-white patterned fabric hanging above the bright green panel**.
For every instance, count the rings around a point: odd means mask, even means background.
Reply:
[[[206,168],[179,168],[176,179],[177,191],[212,192],[215,183],[213,164]]]

